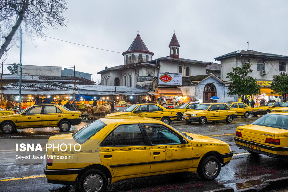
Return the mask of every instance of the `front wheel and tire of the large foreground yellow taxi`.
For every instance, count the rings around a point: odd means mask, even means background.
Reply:
[[[221,171],[221,164],[219,159],[215,156],[206,157],[200,162],[197,168],[198,175],[203,180],[214,180]]]

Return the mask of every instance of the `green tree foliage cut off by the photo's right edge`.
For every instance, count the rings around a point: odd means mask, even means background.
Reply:
[[[270,87],[273,90],[272,94],[279,94],[283,97],[284,101],[287,101],[287,96],[284,96],[288,94],[288,75],[286,73],[273,75],[273,82],[270,84]]]

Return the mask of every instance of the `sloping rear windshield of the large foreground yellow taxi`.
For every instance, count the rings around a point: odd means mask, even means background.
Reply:
[[[103,123],[100,119],[93,121],[89,125],[79,129],[73,134],[73,138],[77,143],[84,143],[100,131],[106,124]]]

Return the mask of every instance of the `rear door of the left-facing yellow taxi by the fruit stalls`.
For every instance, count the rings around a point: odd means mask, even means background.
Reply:
[[[41,115],[41,125],[57,125],[58,121],[62,118],[63,112],[54,105],[44,106],[43,113]]]

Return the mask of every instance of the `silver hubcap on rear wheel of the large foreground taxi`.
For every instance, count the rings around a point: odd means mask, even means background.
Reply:
[[[83,187],[87,192],[100,191],[103,186],[103,179],[100,175],[91,174],[83,182]]]

